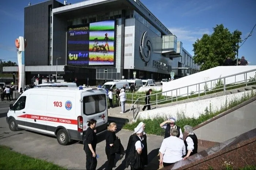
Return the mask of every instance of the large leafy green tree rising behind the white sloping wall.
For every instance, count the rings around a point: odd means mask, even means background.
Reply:
[[[235,58],[238,42],[241,43],[241,31],[230,32],[224,25],[213,28],[212,35],[204,34],[193,44],[194,61],[200,65],[200,70],[222,66],[227,57]]]

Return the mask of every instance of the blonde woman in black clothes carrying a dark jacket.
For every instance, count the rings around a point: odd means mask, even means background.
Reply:
[[[106,151],[106,155],[107,155],[107,158],[108,158],[108,166],[106,167],[106,169],[108,169],[108,170],[113,169],[114,159],[115,159],[115,155],[116,155],[116,152],[114,150],[114,141],[117,138],[116,134],[115,134],[115,131],[116,131],[116,123],[112,122],[112,123],[109,124],[108,131],[107,131],[107,134],[106,134],[106,148],[105,148],[105,151]]]

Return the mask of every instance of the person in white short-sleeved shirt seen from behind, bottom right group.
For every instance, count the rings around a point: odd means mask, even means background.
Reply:
[[[186,154],[186,147],[182,139],[178,138],[178,130],[171,129],[171,136],[163,139],[160,152],[160,166],[169,166],[182,160]]]

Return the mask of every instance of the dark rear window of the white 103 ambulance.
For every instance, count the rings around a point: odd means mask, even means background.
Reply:
[[[83,97],[83,113],[86,115],[97,114],[106,109],[106,95],[91,95]]]

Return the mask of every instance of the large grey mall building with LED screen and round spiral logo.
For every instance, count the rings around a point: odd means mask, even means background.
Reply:
[[[199,71],[192,56],[139,0],[49,0],[25,7],[26,84],[34,78],[80,84],[182,77]],[[18,67],[4,67],[17,72]]]

